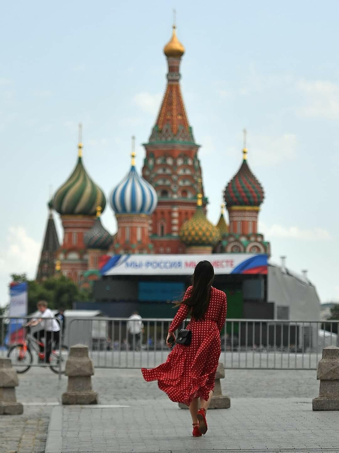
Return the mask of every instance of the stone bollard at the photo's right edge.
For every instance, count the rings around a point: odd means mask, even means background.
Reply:
[[[324,347],[317,379],[320,390],[318,398],[312,400],[312,409],[339,410],[339,347]]]

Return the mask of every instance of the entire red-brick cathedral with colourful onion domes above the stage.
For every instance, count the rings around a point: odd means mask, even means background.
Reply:
[[[37,280],[61,272],[78,284],[99,277],[103,255],[253,253],[270,255],[270,245],[258,232],[264,190],[250,170],[244,144],[242,162],[224,190],[217,225],[207,219],[199,145],[189,124],[180,90],[180,62],[185,52],[176,28],[165,45],[167,86],[147,143],[142,175],[132,164],[111,191],[108,204],[118,223],[109,233],[101,223],[106,197],[87,173],[83,144],[71,176],[49,202],[49,218]],[[226,206],[229,221],[225,219]],[[52,212],[61,218],[59,245]]]

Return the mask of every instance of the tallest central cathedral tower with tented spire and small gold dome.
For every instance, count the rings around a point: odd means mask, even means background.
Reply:
[[[198,178],[201,177],[199,145],[195,143],[179,85],[184,51],[174,25],[172,38],[164,48],[168,63],[165,95],[151,136],[144,144],[146,158],[142,175],[158,196],[150,222],[154,253],[184,253],[179,230],[195,212]],[[202,198],[204,210],[206,202]]]

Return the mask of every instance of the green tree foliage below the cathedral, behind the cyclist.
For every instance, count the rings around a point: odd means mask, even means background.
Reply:
[[[71,309],[73,302],[90,300],[89,291],[79,289],[77,284],[64,275],[51,277],[42,282],[28,280],[26,274],[13,274],[14,282],[28,283],[28,313],[37,309],[39,300],[46,300],[49,308]]]

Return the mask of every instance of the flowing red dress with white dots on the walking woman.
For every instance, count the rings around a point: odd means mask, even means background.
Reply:
[[[188,298],[192,286],[184,296]],[[187,328],[192,331],[189,346],[176,344],[165,363],[147,370],[141,368],[145,381],[158,381],[170,400],[190,405],[193,398],[208,400],[214,388],[219,357],[221,354],[220,332],[226,319],[226,294],[219,289],[211,289],[211,299],[203,320],[194,318]],[[170,332],[174,332],[187,316],[188,306],[182,304],[175,315]]]

